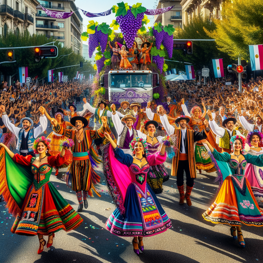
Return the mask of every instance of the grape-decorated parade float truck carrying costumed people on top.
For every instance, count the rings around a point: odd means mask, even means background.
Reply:
[[[120,105],[122,101],[163,102],[167,93],[164,58],[173,55],[173,25],[147,27],[147,15],[170,11],[172,7],[146,9],[140,3],[119,3],[111,8],[116,20],[110,25],[89,21],[82,40],[88,40],[89,57],[95,53],[97,74],[92,83],[93,104],[101,100]],[[116,32],[116,31],[121,32]]]

